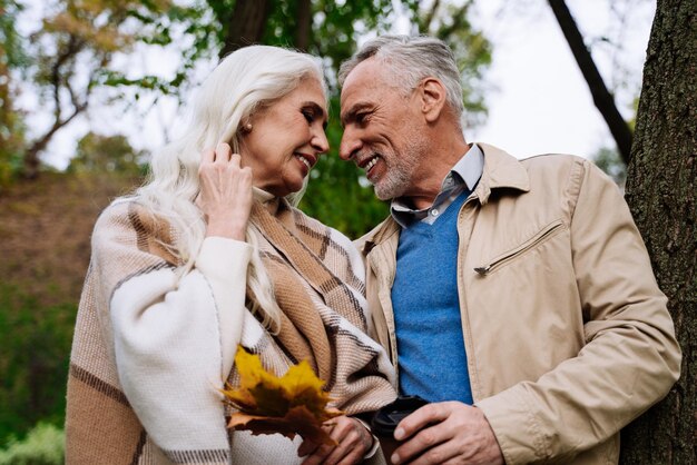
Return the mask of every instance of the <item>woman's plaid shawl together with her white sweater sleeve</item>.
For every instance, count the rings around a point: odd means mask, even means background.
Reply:
[[[195,268],[178,278],[167,248],[177,233],[166,221],[137,200],[102,212],[70,359],[68,464],[297,461],[297,438],[226,429],[232,407],[216,388],[224,377],[238,385],[237,343],[277,375],[307,359],[347,414],[394,398],[387,357],[365,335],[360,255],[336,230],[283,199],[276,205],[272,214],[255,202],[251,221],[283,310],[277,335],[245,306],[254,299],[244,279],[247,244],[207,238]]]

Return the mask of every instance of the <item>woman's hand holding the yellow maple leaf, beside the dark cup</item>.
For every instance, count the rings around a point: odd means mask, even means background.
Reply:
[[[323,426],[331,433],[330,436],[338,443],[336,446],[322,445],[307,441],[301,444],[297,455],[307,455],[303,465],[353,465],[361,463],[365,453],[373,446],[373,436],[363,424],[355,418],[337,416]],[[308,455],[310,454],[310,455]]]

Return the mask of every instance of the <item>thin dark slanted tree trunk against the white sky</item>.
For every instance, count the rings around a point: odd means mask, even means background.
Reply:
[[[631,130],[629,129],[627,121],[625,121],[618,111],[612,95],[605,86],[602,77],[600,76],[598,68],[590,56],[590,51],[588,51],[586,43],[583,43],[583,37],[581,36],[569,8],[567,8],[567,3],[565,0],[549,0],[549,4],[552,8],[557,22],[559,22],[559,27],[561,28],[569,47],[571,48],[573,58],[576,59],[576,62],[578,63],[581,73],[588,83],[596,108],[598,108],[600,115],[602,115],[602,118],[605,119],[605,122],[608,125],[622,160],[625,164],[628,164],[631,151]]]

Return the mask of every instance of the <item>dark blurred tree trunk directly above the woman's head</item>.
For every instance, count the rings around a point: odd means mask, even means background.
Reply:
[[[271,0],[237,0],[220,59],[242,47],[261,42],[269,12]]]

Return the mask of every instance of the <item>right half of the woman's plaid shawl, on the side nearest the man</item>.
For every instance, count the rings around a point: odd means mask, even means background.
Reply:
[[[285,202],[273,216],[255,205],[252,222],[266,239],[261,246],[264,263],[291,325],[282,325],[278,344],[247,340],[247,347],[263,363],[267,357],[283,358],[273,346],[286,347],[292,363],[310,360],[327,382],[325,389],[337,400],[335,406],[348,414],[374,410],[392,400],[393,372],[382,348],[365,335],[364,268],[353,245]],[[302,350],[294,350],[303,340],[307,344]]]

